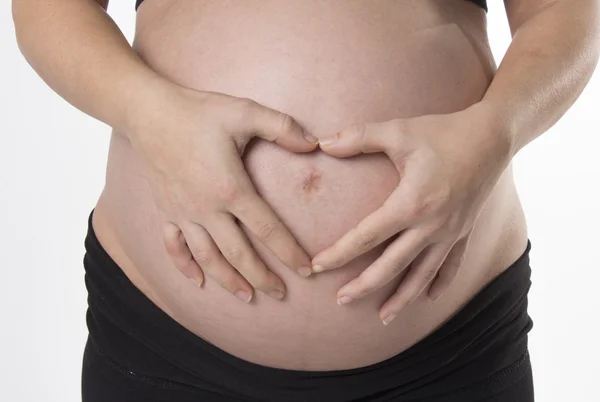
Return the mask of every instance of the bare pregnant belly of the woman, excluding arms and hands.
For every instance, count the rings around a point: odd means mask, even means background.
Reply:
[[[354,122],[463,109],[481,98],[495,70],[483,10],[456,0],[146,0],[138,10],[134,48],[178,84],[255,99],[322,137]],[[111,140],[93,220],[98,238],[132,282],[176,321],[255,363],[332,370],[391,357],[440,326],[526,246],[509,168],[441,301],[422,295],[384,326],[377,311],[398,280],[350,305],[335,299],[381,248],[303,278],[253,241],[287,295],[276,301],[257,293],[247,305],[210,278],[198,289],[175,269],[142,164],[122,134],[113,132]],[[261,141],[244,161],[260,193],[311,255],[380,206],[398,181],[380,154],[340,160],[318,151],[290,154]],[[307,194],[302,181],[311,171],[319,172],[319,186]]]

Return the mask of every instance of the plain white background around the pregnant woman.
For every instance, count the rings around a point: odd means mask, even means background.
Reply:
[[[490,1],[498,62],[510,43]],[[132,38],[134,0],[110,14]],[[551,46],[551,44],[548,44]],[[104,183],[110,129],[52,92],[21,56],[0,3],[0,400],[80,400],[83,239]],[[600,73],[516,158],[533,249],[536,400],[600,401]]]

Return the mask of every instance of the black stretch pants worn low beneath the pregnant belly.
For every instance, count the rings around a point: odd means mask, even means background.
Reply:
[[[90,215],[91,218],[91,215]],[[197,337],[85,240],[88,342],[83,402],[532,402],[529,249],[428,337],[349,370],[282,370]]]

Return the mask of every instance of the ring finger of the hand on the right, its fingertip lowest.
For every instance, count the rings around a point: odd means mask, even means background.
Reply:
[[[400,310],[414,302],[427,284],[435,278],[450,248],[451,246],[441,243],[431,245],[410,264],[410,270],[396,292],[381,307],[380,317],[385,325],[389,324]]]

